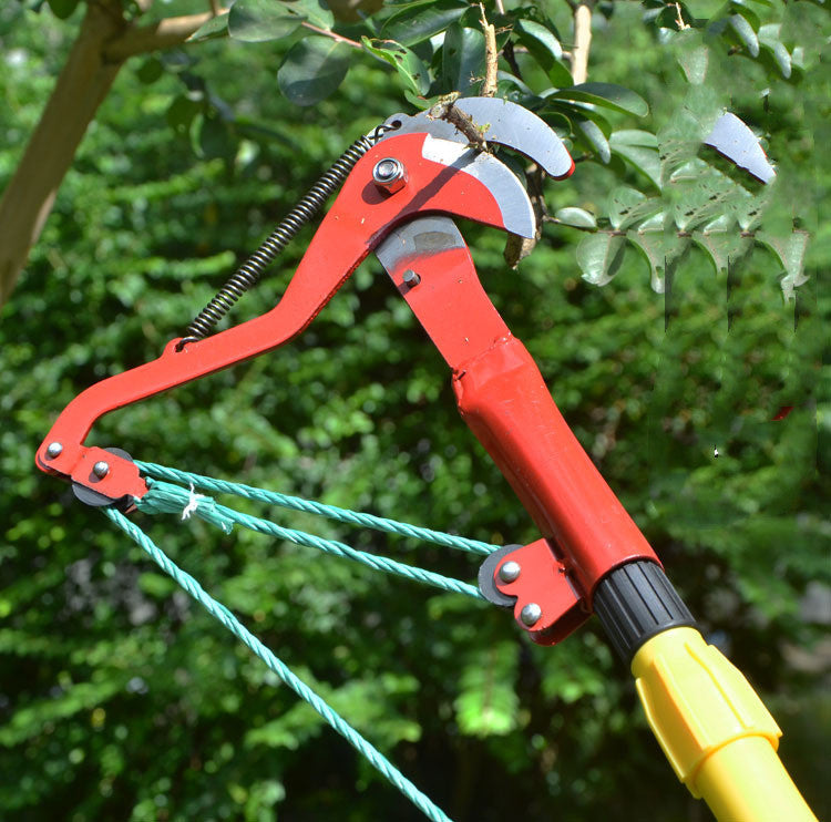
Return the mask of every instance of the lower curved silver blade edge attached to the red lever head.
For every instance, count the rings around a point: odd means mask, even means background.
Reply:
[[[437,140],[430,134],[424,137],[421,154],[424,160],[475,177],[499,204],[505,230],[521,237],[534,236],[536,219],[529,195],[513,172],[496,157],[469,148],[466,143]]]

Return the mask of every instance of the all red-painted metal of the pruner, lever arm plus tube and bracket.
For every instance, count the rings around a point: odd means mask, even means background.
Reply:
[[[414,133],[386,140],[356,164],[274,309],[182,350],[173,340],[158,359],[81,393],[40,446],[39,467],[113,501],[141,497],[146,485],[134,463],[83,444],[96,419],[284,345],[398,224],[440,213],[504,228],[500,203],[475,174],[423,156],[428,138]],[[389,155],[407,168],[407,184],[393,194],[372,182],[376,163]],[[517,617],[532,592],[543,608],[533,638],[558,641],[591,613],[594,588],[605,574],[657,557],[575,439],[531,355],[482,289],[468,248],[461,239],[445,247],[424,236],[431,247],[411,253],[402,247],[388,270],[450,366],[463,419],[544,537],[521,549],[526,568],[521,582],[494,577],[494,583],[509,596],[517,594]],[[404,282],[408,270],[410,284]],[[99,461],[107,463],[104,476],[93,471]]]

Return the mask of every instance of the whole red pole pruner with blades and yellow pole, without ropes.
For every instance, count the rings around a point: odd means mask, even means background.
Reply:
[[[172,340],[162,356],[76,397],[37,453],[91,505],[129,511],[147,492],[126,452],[84,445],[103,414],[283,346],[375,253],[452,373],[460,413],[540,528],[480,569],[483,596],[534,643],[565,639],[594,613],[630,665],[665,754],[719,820],[813,820],[776,753],[781,731],[745,677],[707,645],[644,535],[557,410],[533,358],[480,284],[451,217],[534,237],[531,201],[491,151],[550,177],[574,163],[535,114],[465,97],[453,116],[396,114],[353,156],[283,298],[225,331]]]

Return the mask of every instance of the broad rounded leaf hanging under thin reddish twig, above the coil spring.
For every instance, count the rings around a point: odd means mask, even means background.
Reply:
[[[349,49],[330,38],[310,37],[286,54],[277,84],[297,105],[315,105],[331,94],[349,70]]]

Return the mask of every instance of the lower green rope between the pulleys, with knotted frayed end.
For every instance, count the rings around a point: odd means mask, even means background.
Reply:
[[[232,523],[238,523],[252,531],[276,536],[280,540],[287,540],[296,545],[306,545],[310,548],[324,551],[327,554],[353,559],[362,565],[368,565],[375,571],[396,574],[407,579],[422,583],[424,585],[433,585],[437,588],[454,594],[465,594],[475,599],[484,598],[482,594],[480,594],[479,588],[469,585],[468,583],[463,583],[460,579],[442,576],[441,574],[435,574],[425,568],[406,565],[384,556],[376,556],[375,554],[368,554],[363,551],[356,551],[343,543],[335,542],[334,540],[324,540],[314,534],[307,534],[304,531],[285,528],[269,520],[261,520],[256,516],[243,514],[242,512],[234,511],[225,505],[219,505],[211,497],[203,496],[202,494],[194,495],[193,492],[188,493],[178,485],[172,485],[171,483],[161,480],[151,481],[148,485],[150,490],[140,500],[135,501],[136,507],[143,513],[182,514],[183,512],[191,512],[206,522],[218,525],[226,533],[230,531]]]

